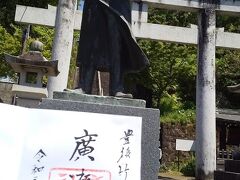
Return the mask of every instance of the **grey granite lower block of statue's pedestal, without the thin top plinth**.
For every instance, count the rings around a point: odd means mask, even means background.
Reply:
[[[142,117],[141,179],[158,179],[160,165],[158,109],[60,99],[43,99],[39,108]]]

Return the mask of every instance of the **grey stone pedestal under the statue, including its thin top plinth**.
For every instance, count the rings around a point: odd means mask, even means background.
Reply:
[[[53,97],[53,99],[42,99],[39,108],[142,117],[141,179],[158,179],[160,155],[158,109],[143,107],[143,100],[70,92],[55,92]]]

